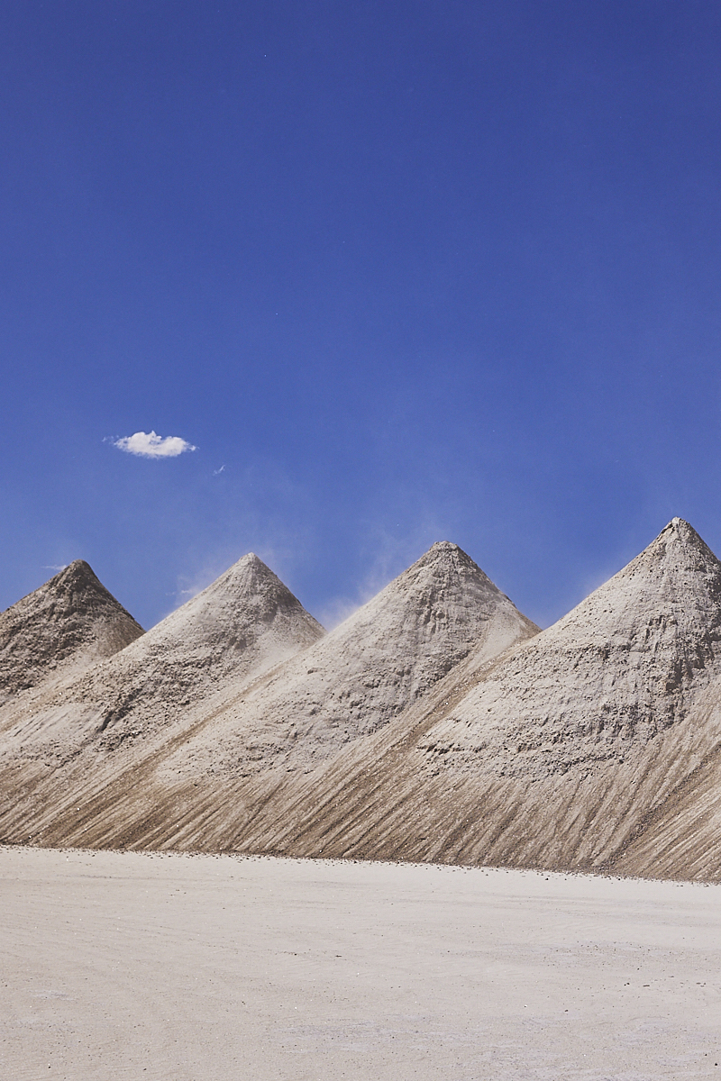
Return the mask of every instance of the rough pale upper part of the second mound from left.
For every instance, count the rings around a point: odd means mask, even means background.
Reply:
[[[323,629],[257,556],[240,559],[141,639],[5,723],[28,756],[109,750],[188,718]]]

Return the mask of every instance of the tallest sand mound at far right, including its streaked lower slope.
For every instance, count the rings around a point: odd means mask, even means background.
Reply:
[[[237,841],[721,878],[718,836],[705,863],[685,858],[683,840],[690,824],[721,819],[720,680],[721,564],[675,519],[553,627],[485,668],[469,657],[419,707],[266,805],[258,792]]]

